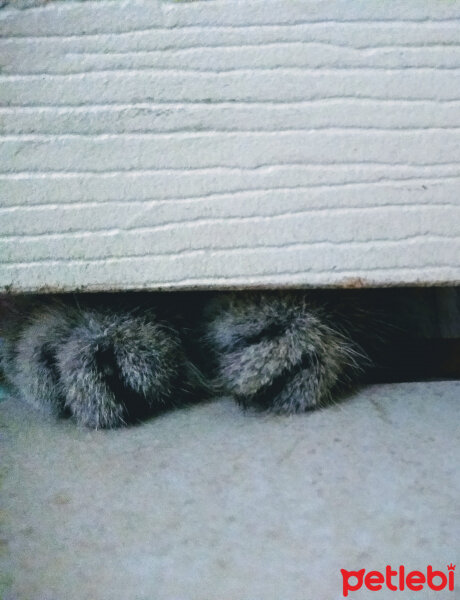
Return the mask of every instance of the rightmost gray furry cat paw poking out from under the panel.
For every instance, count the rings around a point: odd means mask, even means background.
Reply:
[[[211,310],[207,340],[223,390],[244,407],[275,413],[330,402],[366,361],[303,294],[224,296]]]

